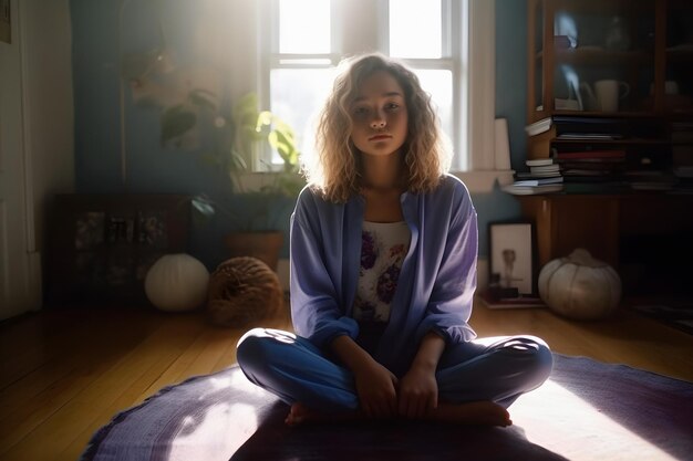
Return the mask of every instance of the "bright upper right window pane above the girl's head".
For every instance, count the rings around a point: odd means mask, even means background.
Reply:
[[[441,0],[390,0],[390,55],[441,57]]]

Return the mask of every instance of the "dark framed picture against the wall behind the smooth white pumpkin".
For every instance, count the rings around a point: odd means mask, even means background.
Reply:
[[[148,305],[147,271],[186,252],[190,205],[182,195],[58,195],[51,203],[46,305]]]

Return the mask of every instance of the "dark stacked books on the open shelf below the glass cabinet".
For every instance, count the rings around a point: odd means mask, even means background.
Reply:
[[[691,158],[690,150],[678,149],[693,146],[693,126],[675,125],[674,134],[686,140],[669,149],[666,125],[650,117],[554,115],[525,129],[528,158],[558,164],[566,193],[674,190],[671,165],[675,157]]]

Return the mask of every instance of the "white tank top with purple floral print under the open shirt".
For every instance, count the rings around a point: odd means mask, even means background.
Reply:
[[[361,270],[353,317],[359,322],[387,322],[402,261],[408,251],[406,222],[363,222]]]

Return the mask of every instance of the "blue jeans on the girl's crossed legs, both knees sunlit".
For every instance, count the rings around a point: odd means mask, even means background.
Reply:
[[[238,342],[237,359],[250,381],[289,405],[330,412],[359,408],[351,370],[303,337],[255,328]],[[507,408],[548,378],[552,362],[546,343],[534,336],[448,345],[436,371],[438,398],[452,404],[490,400]]]

